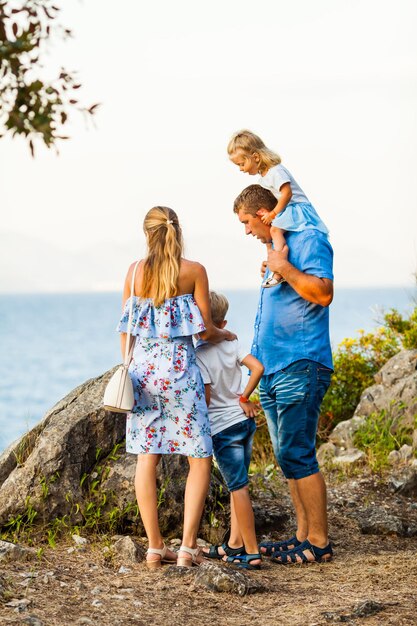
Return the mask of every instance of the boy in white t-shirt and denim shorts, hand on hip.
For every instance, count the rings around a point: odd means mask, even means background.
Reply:
[[[213,323],[224,328],[229,308],[227,299],[211,291],[210,305]],[[196,354],[206,391],[213,452],[230,491],[231,510],[229,540],[210,546],[203,553],[209,559],[222,559],[245,569],[260,569],[261,555],[248,488],[257,406],[249,397],[264,367],[254,356],[242,351],[236,340],[217,344],[199,342]],[[251,370],[243,393],[241,364]]]

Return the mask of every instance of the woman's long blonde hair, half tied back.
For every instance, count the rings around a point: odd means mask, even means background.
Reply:
[[[172,209],[156,206],[145,216],[143,230],[148,255],[143,266],[141,296],[152,298],[155,306],[178,293],[178,277],[183,254],[182,231]]]

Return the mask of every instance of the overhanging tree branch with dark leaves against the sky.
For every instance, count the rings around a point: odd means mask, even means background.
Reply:
[[[98,106],[77,106],[81,85],[74,73],[61,68],[54,80],[42,76],[47,44],[71,36],[58,14],[50,0],[0,1],[0,121],[6,132],[29,141],[32,155],[37,137],[48,148],[68,139],[62,132],[71,110],[92,115]]]

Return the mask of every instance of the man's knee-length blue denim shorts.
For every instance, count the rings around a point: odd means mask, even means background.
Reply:
[[[319,471],[317,424],[331,375],[329,368],[303,359],[261,379],[261,405],[286,478],[305,478]]]

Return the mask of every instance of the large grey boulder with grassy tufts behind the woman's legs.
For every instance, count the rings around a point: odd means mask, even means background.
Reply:
[[[143,533],[134,490],[136,456],[124,447],[126,417],[102,406],[113,372],[71,391],[0,456],[0,527],[30,511],[42,524],[66,516],[66,522],[92,529],[106,522],[110,530]],[[181,532],[187,473],[185,457],[162,456],[158,504],[161,530],[168,536]],[[214,473],[202,524],[209,540],[225,531],[227,499]]]

